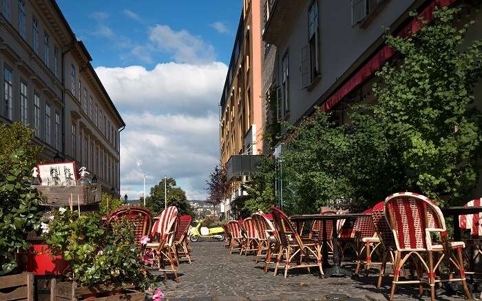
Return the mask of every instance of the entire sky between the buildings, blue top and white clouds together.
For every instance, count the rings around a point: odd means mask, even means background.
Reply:
[[[219,163],[218,104],[241,0],[76,1],[59,6],[89,50],[126,129],[121,194],[134,199],[164,175],[205,198]]]

